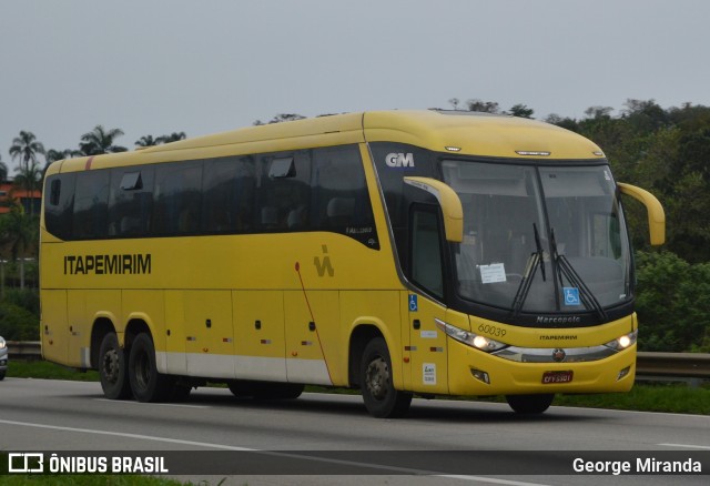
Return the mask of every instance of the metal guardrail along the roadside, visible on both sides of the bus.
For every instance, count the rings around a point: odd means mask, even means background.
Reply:
[[[10,360],[40,360],[39,341],[8,341]],[[710,379],[710,353],[638,353],[637,379]]]

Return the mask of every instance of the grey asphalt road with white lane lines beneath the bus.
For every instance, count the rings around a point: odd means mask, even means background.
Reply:
[[[210,484],[226,477],[225,485],[647,486],[707,484],[710,474],[708,416],[552,406],[524,417],[504,404],[415,399],[406,418],[375,419],[359,396],[254,402],[200,388],[185,403],[141,404],[104,399],[98,383],[19,378],[0,383],[0,444],[168,455],[170,475]],[[628,462],[636,470],[636,459],[667,454],[699,462],[703,476],[615,476],[612,464],[608,474],[576,474],[571,464]]]

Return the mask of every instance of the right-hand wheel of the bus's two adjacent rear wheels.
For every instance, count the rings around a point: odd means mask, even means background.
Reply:
[[[172,376],[158,373],[155,346],[148,333],[139,334],[129,355],[131,391],[139,402],[165,402],[174,389]]]

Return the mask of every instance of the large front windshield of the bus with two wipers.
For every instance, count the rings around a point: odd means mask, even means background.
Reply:
[[[627,302],[630,250],[607,165],[444,161],[459,195],[456,288],[476,303],[525,313],[595,312]]]

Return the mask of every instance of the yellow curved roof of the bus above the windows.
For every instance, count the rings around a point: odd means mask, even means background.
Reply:
[[[140,151],[69,159],[50,173],[84,170],[89,165],[98,169],[365,141],[491,158],[604,158],[599,146],[588,139],[540,121],[465,111],[392,110],[248,126]]]

